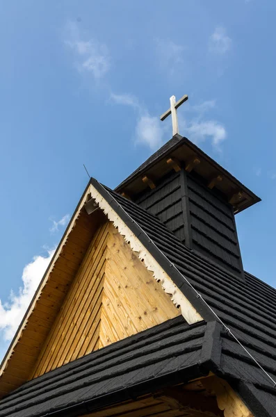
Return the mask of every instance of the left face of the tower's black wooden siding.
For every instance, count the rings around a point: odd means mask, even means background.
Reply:
[[[179,172],[170,172],[154,190],[146,190],[135,202],[156,215],[175,236],[185,243]]]

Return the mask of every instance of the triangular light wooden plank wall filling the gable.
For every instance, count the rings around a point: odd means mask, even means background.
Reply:
[[[111,222],[99,227],[33,377],[180,314]]]

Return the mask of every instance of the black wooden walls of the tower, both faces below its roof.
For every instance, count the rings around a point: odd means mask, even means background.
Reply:
[[[193,174],[183,168],[172,171],[134,201],[156,215],[186,247],[243,275],[232,206]]]

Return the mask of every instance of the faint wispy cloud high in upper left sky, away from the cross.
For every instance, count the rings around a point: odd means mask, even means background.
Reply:
[[[74,22],[68,22],[65,44],[74,53],[76,68],[79,72],[92,74],[101,79],[110,68],[110,55],[106,44],[96,38],[85,39]]]

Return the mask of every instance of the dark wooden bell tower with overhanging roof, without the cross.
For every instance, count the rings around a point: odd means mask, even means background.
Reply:
[[[260,199],[176,134],[115,189],[156,215],[189,250],[243,279],[234,215]]]

